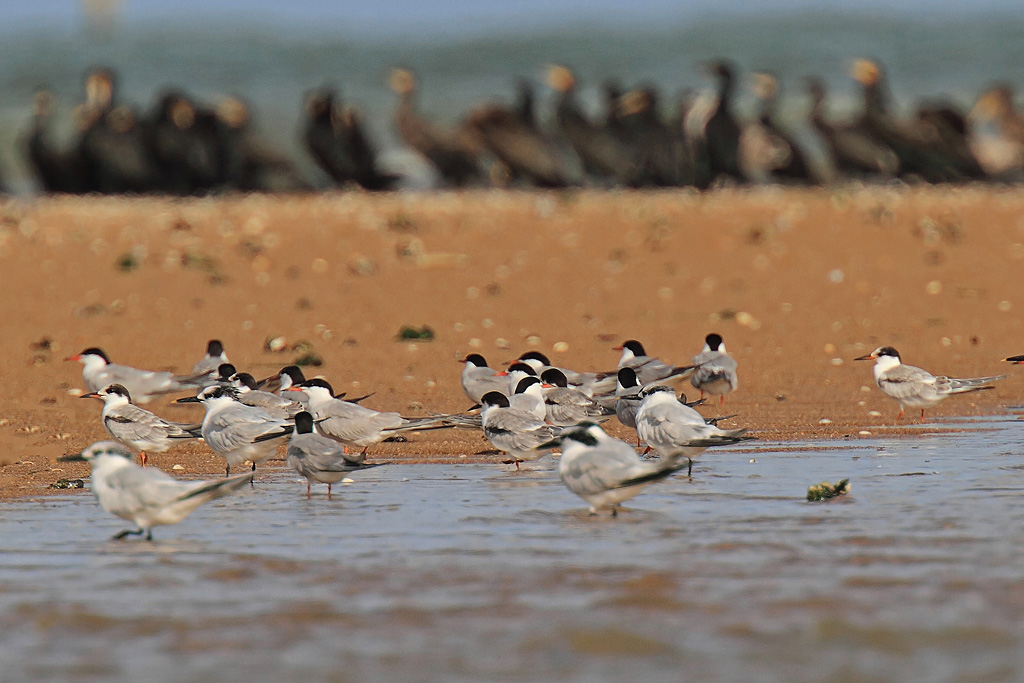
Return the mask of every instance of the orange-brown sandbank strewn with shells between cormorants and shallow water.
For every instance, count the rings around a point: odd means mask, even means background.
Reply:
[[[457,360],[469,352],[500,365],[537,348],[610,370],[625,339],[682,364],[718,332],[740,386],[705,413],[735,413],[729,425],[767,439],[818,439],[893,424],[870,365],[851,361],[888,344],[936,374],[1009,374],[930,415],[998,413],[1019,402],[1024,372],[999,362],[1024,352],[1021,216],[1024,197],[998,187],[7,201],[0,497],[87,473],[54,462],[105,437],[99,401],[77,397],[80,366],[61,361],[87,346],[186,372],[219,338],[258,376],[311,350],[323,365],[310,374],[336,390],[423,415],[468,408]],[[396,339],[424,325],[433,341]],[[285,350],[266,350],[274,338]],[[371,456],[497,462],[488,450],[443,431]],[[223,472],[201,443],[153,462]]]

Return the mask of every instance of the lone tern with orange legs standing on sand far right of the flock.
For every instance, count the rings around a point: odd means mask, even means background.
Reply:
[[[899,351],[892,346],[880,346],[867,355],[858,356],[854,360],[874,360],[874,383],[882,389],[882,393],[899,402],[897,420],[903,418],[904,409],[920,408],[921,421],[924,422],[925,411],[935,408],[946,396],[992,389],[994,387],[988,386],[989,384],[1007,377],[1006,375],[969,379],[936,377],[927,370],[904,366]]]

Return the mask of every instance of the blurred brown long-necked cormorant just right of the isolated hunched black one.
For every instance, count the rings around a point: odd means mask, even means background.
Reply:
[[[416,76],[408,69],[391,70],[388,83],[398,94],[394,126],[406,144],[420,153],[446,184],[461,187],[479,182],[479,145],[474,135],[462,128],[445,128],[430,122],[416,111]]]

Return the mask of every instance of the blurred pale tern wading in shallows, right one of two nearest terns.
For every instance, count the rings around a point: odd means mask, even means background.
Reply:
[[[561,446],[558,476],[565,487],[590,504],[590,514],[618,506],[639,494],[644,486],[678,472],[678,461],[644,462],[626,441],[608,436],[593,422],[582,422],[538,447]]]

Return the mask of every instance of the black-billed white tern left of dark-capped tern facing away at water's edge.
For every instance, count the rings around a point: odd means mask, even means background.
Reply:
[[[198,396],[178,398],[178,403],[201,402],[206,408],[200,433],[214,453],[227,461],[224,470],[229,476],[232,465],[256,465],[269,460],[278,449],[276,439],[292,433],[294,425],[275,418],[263,409],[240,403],[236,392],[224,387],[203,389]]]

